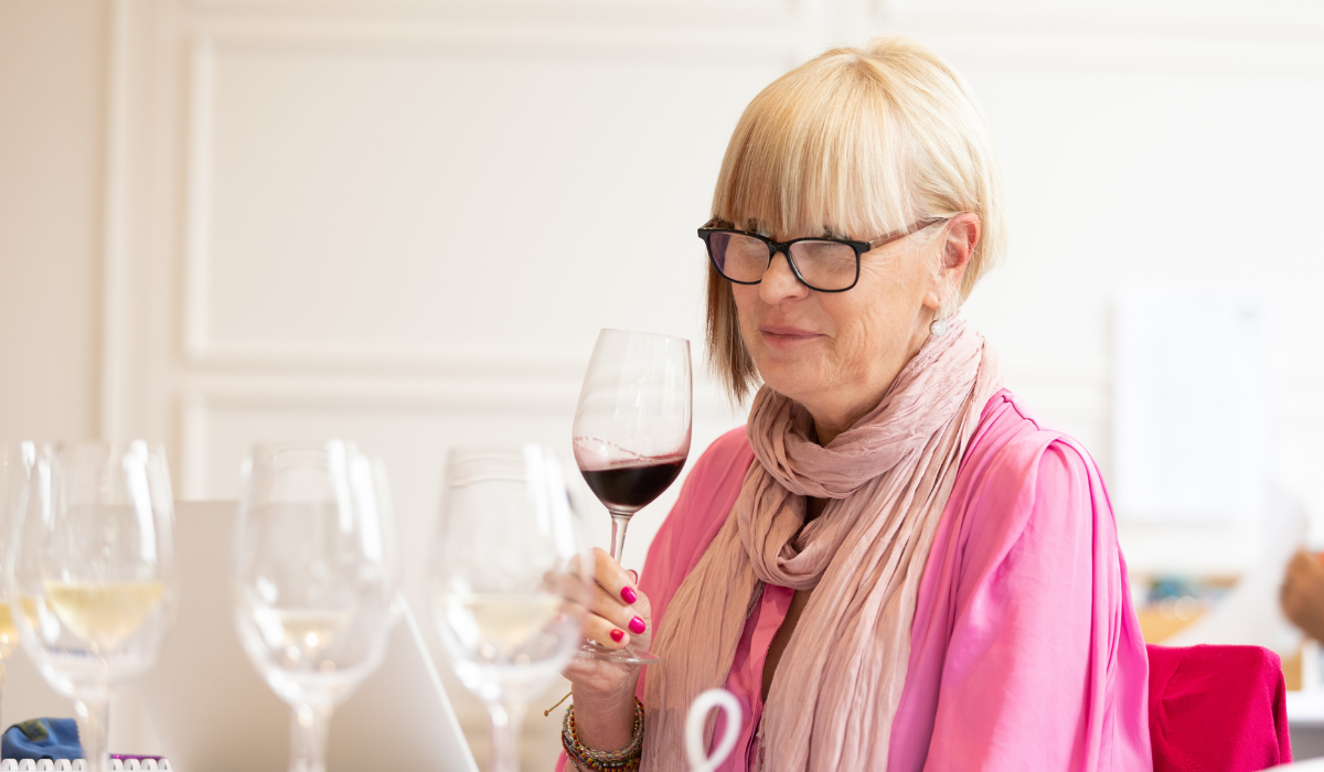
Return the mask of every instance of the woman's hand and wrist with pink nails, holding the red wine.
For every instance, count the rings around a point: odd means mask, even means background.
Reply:
[[[592,560],[592,581],[583,608],[584,637],[606,649],[624,649],[633,642],[637,649],[647,650],[653,640],[651,606],[636,587],[637,576],[602,550],[594,548]],[[573,686],[580,742],[604,751],[629,744],[639,666],[575,657],[564,674]]]

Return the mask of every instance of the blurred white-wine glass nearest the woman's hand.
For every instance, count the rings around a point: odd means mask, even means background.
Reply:
[[[491,716],[491,768],[518,768],[527,702],[569,662],[585,600],[565,477],[535,445],[455,449],[428,571],[433,622]]]

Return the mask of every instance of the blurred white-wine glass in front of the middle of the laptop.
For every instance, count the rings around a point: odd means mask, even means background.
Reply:
[[[335,707],[381,663],[400,563],[380,462],[350,442],[258,445],[234,554],[244,650],[290,704],[290,769],[326,769]]]

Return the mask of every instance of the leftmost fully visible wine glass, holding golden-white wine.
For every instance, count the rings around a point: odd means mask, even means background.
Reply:
[[[74,699],[87,767],[102,772],[110,687],[152,666],[173,621],[169,471],[142,441],[21,449],[11,616],[46,682]]]

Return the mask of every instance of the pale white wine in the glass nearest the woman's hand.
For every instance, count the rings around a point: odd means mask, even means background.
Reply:
[[[561,613],[556,595],[448,595],[446,620],[459,642],[483,659],[506,658]]]

